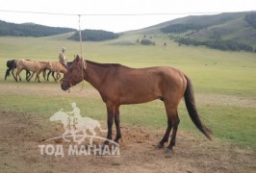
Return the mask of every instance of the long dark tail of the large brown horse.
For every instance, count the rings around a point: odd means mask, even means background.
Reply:
[[[195,101],[193,96],[193,89],[192,89],[192,81],[185,75],[187,80],[187,87],[185,90],[184,98],[187,110],[192,118],[193,124],[201,131],[207,138],[212,140],[211,134],[212,131],[208,129],[206,126],[203,125],[201,122],[198,112],[196,111]]]

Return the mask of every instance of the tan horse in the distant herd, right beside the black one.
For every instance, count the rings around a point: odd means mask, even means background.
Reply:
[[[37,77],[35,79],[35,81],[37,81],[38,79],[38,83],[40,82],[39,80],[39,74],[41,71],[43,71],[44,69],[52,69],[52,64],[51,62],[33,62],[33,61],[25,61],[25,60],[20,60],[16,62],[16,68],[17,68],[17,72],[16,72],[16,79],[17,76],[19,77],[19,81],[21,81],[20,78],[20,72],[23,69],[32,71],[32,75],[29,79],[27,79],[27,81],[29,82],[31,80],[31,78],[33,78],[34,74],[37,73]]]

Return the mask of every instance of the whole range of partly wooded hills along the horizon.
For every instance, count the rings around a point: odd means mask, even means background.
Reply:
[[[0,36],[48,37],[75,31],[77,30],[46,27],[35,23],[14,24],[0,20]],[[86,32],[86,37],[83,40],[100,41],[118,37],[112,32],[102,30],[85,30],[84,33]],[[78,33],[74,34],[71,37],[79,40]],[[256,52],[256,12],[191,15],[141,30],[125,32],[124,35],[131,37],[137,35],[160,35],[169,37],[179,42],[179,44],[204,45],[221,50]]]

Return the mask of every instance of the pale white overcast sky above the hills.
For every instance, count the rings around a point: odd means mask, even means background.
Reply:
[[[79,29],[81,14],[81,30],[119,33],[188,15],[248,11],[256,11],[256,0],[7,0],[0,20]]]

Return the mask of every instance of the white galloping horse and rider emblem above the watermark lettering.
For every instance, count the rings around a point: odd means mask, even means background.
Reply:
[[[107,139],[96,136],[96,129],[100,130],[100,132],[107,132],[107,130],[101,129],[100,123],[97,120],[81,116],[80,109],[76,106],[76,103],[71,103],[71,106],[73,111],[64,111],[61,109],[50,117],[50,121],[61,121],[64,125],[64,134],[54,138],[62,137],[65,142],[71,142],[71,140],[67,138],[71,136],[73,142],[77,144],[81,144],[85,141],[85,138],[90,138],[90,145],[92,145],[93,138]]]

